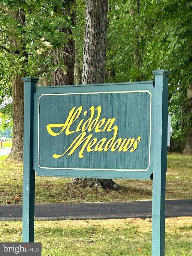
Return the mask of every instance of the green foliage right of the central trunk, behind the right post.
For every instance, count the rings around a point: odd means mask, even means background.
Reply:
[[[110,0],[109,5],[107,82],[151,80],[152,70],[171,71],[173,138],[185,139],[192,125],[186,108],[186,88],[192,83],[192,3]],[[112,69],[115,76],[110,74]]]

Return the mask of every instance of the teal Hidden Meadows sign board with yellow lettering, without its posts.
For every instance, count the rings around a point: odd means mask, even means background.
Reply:
[[[153,82],[37,87],[33,169],[63,177],[150,178],[153,101]]]

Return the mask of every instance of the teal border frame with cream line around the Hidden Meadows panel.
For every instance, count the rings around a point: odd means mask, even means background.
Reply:
[[[137,88],[137,89],[136,89]],[[134,82],[134,83],[116,83],[116,84],[91,84],[91,85],[75,85],[75,86],[49,86],[37,87],[37,92],[34,94],[34,150],[33,150],[33,169],[38,176],[52,177],[75,177],[75,178],[131,178],[131,179],[149,179],[152,175],[153,151],[151,151],[151,143],[153,143],[153,126],[152,119],[154,118],[154,86],[153,81]],[[121,169],[82,169],[78,166],[75,169],[70,168],[47,168],[41,167],[38,162],[38,139],[39,139],[39,102],[41,97],[59,96],[76,94],[118,94],[118,93],[149,93],[150,95],[150,141],[149,141],[149,165],[146,170],[121,170]],[[100,153],[101,154],[101,153]],[[124,153],[125,154],[125,153]],[[99,161],[98,161],[99,166]]]

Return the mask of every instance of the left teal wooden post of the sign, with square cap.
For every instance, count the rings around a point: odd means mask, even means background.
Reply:
[[[33,165],[33,96],[38,78],[22,78],[24,85],[23,229],[22,242],[34,242],[35,171]]]

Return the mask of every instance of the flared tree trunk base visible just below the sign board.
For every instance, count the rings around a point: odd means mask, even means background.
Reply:
[[[112,179],[87,179],[73,178],[72,184],[84,187],[98,187],[102,189],[120,190],[122,187],[116,184]]]

